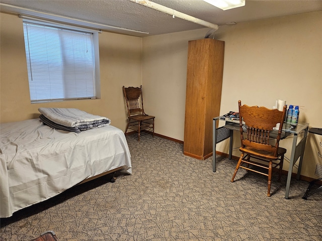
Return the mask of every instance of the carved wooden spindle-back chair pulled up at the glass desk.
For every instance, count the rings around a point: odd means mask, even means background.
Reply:
[[[241,105],[241,101],[238,100],[238,107],[241,140],[241,147],[239,150],[241,155],[231,178],[231,182],[234,181],[239,167],[263,174],[268,177],[267,196],[270,197],[272,170],[279,167],[278,180],[280,181],[284,154],[286,153],[286,149],[279,147],[286,105],[284,106],[283,111],[280,111],[278,109],[268,109],[266,107],[248,106],[246,104]],[[278,126],[278,134],[276,137],[275,132],[275,136],[272,138],[272,131],[276,126]],[[243,127],[247,129],[245,134]],[[272,139],[275,140],[275,144],[273,145],[270,144],[270,142],[273,141]]]

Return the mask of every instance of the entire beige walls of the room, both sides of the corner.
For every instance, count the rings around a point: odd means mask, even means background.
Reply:
[[[1,14],[1,122],[38,117],[38,107],[75,107],[108,116],[125,130],[121,87],[143,83],[144,107],[156,116],[155,132],[184,140],[188,41],[208,29],[144,38],[99,35],[101,99],[31,104],[22,20]],[[220,111],[237,110],[237,101],[273,106],[276,99],[302,105],[300,122],[322,127],[322,12],[220,26],[215,38],[225,41]],[[236,137],[237,135],[235,135]],[[281,142],[290,157],[292,139]],[[314,175],[320,136],[309,134],[302,175]],[[238,156],[238,138],[233,155]],[[218,146],[227,153],[228,143]],[[287,170],[287,161],[284,169]],[[294,169],[294,171],[296,171]]]

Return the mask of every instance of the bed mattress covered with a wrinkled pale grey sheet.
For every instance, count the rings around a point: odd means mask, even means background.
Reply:
[[[1,217],[109,170],[124,166],[132,173],[124,133],[113,126],[77,134],[37,118],[1,124],[0,134]]]

